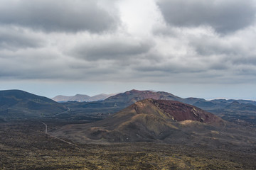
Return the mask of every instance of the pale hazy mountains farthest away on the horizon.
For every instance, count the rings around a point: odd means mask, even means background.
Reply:
[[[85,94],[76,94],[75,96],[62,96],[62,95],[58,95],[55,96],[53,99],[53,101],[57,101],[60,103],[63,102],[68,102],[68,101],[78,101],[78,102],[89,102],[89,101],[103,101],[106,98],[110,97],[110,96],[114,96],[115,94],[98,94],[95,96],[87,96]]]

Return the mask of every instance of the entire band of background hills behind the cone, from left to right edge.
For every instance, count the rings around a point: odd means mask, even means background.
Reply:
[[[164,91],[138,90],[126,91],[114,96],[102,94],[92,97],[76,95],[56,98],[57,101],[68,100],[68,102],[57,103],[50,98],[36,96],[25,91],[0,91],[0,121],[12,118],[46,118],[53,115],[55,115],[54,118],[63,120],[99,120],[107,118],[137,101],[151,98],[190,104],[214,113],[224,120],[256,127],[255,101],[233,99],[206,101],[203,98],[181,98]],[[82,102],[85,98],[87,98],[87,102]],[[105,100],[102,101],[103,98]]]

